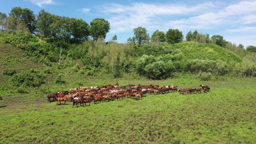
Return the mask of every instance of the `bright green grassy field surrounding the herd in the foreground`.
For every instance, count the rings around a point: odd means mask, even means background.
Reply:
[[[74,79],[78,80],[78,79]],[[0,101],[0,144],[255,144],[256,79],[202,82],[197,79],[80,79],[103,83],[211,86],[211,92],[147,95],[72,108],[45,95],[4,95]],[[70,85],[54,86],[69,89]],[[7,91],[7,90],[6,90]]]

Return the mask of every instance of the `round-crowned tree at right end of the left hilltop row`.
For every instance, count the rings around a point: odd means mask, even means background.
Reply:
[[[106,38],[106,34],[110,30],[110,24],[104,18],[95,18],[90,22],[90,35],[94,40],[98,40],[99,37]]]

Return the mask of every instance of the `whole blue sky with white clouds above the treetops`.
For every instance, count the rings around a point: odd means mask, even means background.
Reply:
[[[222,35],[237,45],[256,46],[256,0],[0,0],[0,12],[9,13],[12,7],[29,8],[82,18],[88,24],[94,18],[110,22],[106,41],[116,34],[125,43],[133,29],[146,27],[151,35],[155,30],[179,29],[184,37],[189,30]]]

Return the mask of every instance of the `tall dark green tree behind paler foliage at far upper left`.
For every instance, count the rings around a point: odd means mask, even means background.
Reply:
[[[34,33],[36,30],[36,16],[34,12],[28,8],[22,9],[21,7],[13,7],[10,16],[21,19],[20,22],[23,22],[26,27],[29,29],[30,33]]]

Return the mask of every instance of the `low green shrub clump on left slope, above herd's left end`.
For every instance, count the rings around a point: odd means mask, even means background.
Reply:
[[[40,73],[33,73],[29,70],[14,74],[10,81],[14,86],[40,86],[45,76]]]

